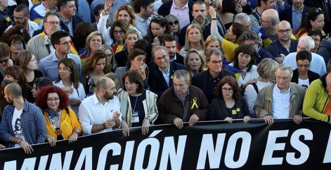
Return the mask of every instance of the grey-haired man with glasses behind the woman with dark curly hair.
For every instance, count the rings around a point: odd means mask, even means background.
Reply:
[[[262,59],[264,58],[271,58],[273,59],[273,56],[270,52],[264,50],[262,48],[262,39],[259,37],[259,35],[252,31],[252,30],[246,30],[244,31],[237,40],[238,44],[250,44],[259,54],[259,57],[256,58],[256,64],[260,63]]]

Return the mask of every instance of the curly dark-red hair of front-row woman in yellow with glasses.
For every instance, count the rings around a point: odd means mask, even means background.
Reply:
[[[66,91],[55,85],[44,86],[37,94],[36,105],[40,107],[43,111],[48,108],[47,97],[49,93],[57,93],[60,97],[59,108],[65,109],[69,105],[69,97]]]

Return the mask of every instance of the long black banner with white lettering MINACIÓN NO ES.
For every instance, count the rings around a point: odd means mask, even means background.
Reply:
[[[0,169],[329,169],[331,125],[304,119],[235,120],[131,128],[68,140],[0,150]]]

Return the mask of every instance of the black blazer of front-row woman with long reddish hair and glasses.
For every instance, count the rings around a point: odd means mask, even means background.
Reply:
[[[212,100],[212,103],[210,104],[210,112],[208,114],[207,120],[224,120],[226,117],[240,119],[244,118],[244,116],[246,115],[251,117],[248,105],[244,97],[241,97],[240,99],[235,99],[234,109],[236,110],[236,114],[229,114],[224,98],[214,98]]]

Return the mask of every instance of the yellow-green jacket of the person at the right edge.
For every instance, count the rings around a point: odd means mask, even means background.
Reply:
[[[325,114],[328,103],[325,75],[311,82],[303,100],[303,113],[311,118],[328,122],[329,116]]]

